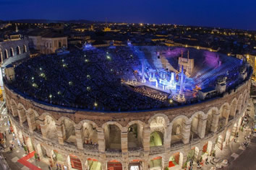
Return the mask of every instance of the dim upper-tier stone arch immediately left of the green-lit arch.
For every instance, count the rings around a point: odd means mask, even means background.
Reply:
[[[145,123],[140,120],[134,120],[128,123],[126,126],[128,130],[128,149],[135,150],[135,148],[142,148],[143,127],[145,127]]]

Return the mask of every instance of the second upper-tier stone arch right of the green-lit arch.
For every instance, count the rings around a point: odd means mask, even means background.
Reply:
[[[204,112],[199,111],[189,118],[189,122],[191,122],[190,135],[193,135],[193,138],[197,138],[197,136],[199,138],[205,137],[206,117],[207,115]]]

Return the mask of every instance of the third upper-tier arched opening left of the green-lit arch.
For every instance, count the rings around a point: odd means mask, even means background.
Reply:
[[[98,148],[98,133],[92,124],[88,122],[82,124],[82,137],[84,148]]]

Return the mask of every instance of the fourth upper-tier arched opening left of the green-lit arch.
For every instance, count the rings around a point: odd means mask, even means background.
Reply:
[[[74,131],[74,122],[64,119],[62,121],[62,133],[63,133],[63,139],[66,143],[73,143],[75,144],[77,142],[75,138],[75,131]]]

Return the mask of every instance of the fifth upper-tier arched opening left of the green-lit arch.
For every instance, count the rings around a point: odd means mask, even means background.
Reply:
[[[52,117],[46,115],[46,118],[44,120],[44,130],[46,133],[46,138],[48,139],[56,139],[57,140],[57,130],[55,121]]]

